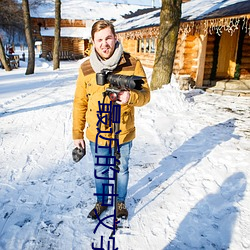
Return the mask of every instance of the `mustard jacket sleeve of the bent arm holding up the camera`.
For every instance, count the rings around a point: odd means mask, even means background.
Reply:
[[[139,60],[136,62],[134,75],[143,77],[143,85],[141,90],[133,89],[130,91],[128,105],[141,107],[150,101],[150,88],[148,86],[146,74]]]

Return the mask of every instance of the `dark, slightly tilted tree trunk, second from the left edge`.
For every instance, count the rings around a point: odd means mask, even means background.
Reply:
[[[28,66],[25,75],[30,75],[34,74],[35,70],[35,48],[32,37],[32,27],[30,21],[30,10],[29,10],[28,0],[22,0],[22,8],[23,8],[23,18],[24,18],[24,31],[25,31],[26,41],[28,44]]]

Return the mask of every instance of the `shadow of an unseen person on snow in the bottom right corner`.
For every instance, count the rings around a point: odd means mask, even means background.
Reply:
[[[181,222],[176,237],[163,250],[229,249],[247,180],[242,172],[228,177],[217,193],[207,195]]]

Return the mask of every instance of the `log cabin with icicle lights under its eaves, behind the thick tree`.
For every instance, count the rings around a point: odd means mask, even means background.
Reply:
[[[115,22],[124,50],[147,67],[154,65],[160,11],[137,11]],[[173,73],[187,76],[199,88],[246,80],[249,90],[250,1],[184,1]]]

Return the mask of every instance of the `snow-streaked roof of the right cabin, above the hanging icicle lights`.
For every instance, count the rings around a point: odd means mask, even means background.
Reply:
[[[119,19],[114,25],[117,32],[157,26],[160,8],[131,18]],[[182,4],[182,21],[195,21],[250,13],[250,0],[191,0]]]

